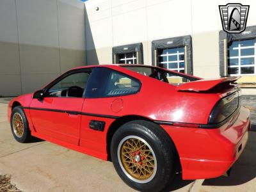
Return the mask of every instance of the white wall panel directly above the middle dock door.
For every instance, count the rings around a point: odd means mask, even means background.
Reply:
[[[190,1],[166,1],[147,8],[148,40],[191,34]]]

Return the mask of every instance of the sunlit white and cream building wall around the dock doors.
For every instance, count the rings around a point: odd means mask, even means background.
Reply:
[[[232,1],[236,2],[250,4],[247,26],[256,25],[256,1]],[[144,64],[152,65],[152,40],[191,35],[194,75],[220,77],[218,42],[222,27],[218,5],[227,3],[230,1],[86,1],[87,63],[111,63],[113,46],[142,42]],[[256,90],[243,93],[256,94]]]

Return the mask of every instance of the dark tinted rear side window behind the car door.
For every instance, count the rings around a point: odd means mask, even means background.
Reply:
[[[85,97],[115,97],[140,91],[140,81],[105,67],[93,69]]]

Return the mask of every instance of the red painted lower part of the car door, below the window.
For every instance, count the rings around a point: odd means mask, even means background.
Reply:
[[[29,108],[32,122],[39,134],[78,145],[81,115],[58,113],[55,111],[33,110],[33,108],[81,111],[83,98],[45,97],[44,102],[33,99]]]

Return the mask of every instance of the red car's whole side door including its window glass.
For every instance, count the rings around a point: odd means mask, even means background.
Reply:
[[[91,70],[68,72],[51,83],[29,110],[38,134],[78,145],[84,88]]]

